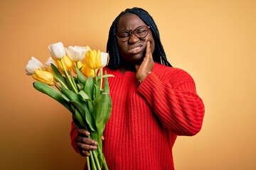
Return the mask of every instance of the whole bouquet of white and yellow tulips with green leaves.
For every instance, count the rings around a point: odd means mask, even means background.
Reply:
[[[51,57],[42,64],[31,57],[26,74],[37,81],[33,87],[61,103],[72,113],[77,128],[90,132],[97,140],[97,150],[90,151],[87,169],[105,169],[107,163],[102,153],[102,134],[112,111],[112,101],[107,77],[102,73],[108,54],[90,47],[64,47],[62,42],[49,45]]]

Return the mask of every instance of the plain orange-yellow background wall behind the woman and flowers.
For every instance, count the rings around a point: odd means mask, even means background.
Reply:
[[[105,51],[112,21],[133,6],[154,17],[169,61],[191,74],[206,106],[201,132],[176,140],[176,169],[256,169],[253,0],[1,0],[0,169],[82,169],[70,113],[33,89],[24,67],[32,56],[46,62],[58,41]]]

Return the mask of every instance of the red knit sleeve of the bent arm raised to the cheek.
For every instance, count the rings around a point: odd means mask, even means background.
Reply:
[[[176,135],[196,135],[203,123],[203,101],[196,94],[192,77],[181,69],[173,70],[156,75],[153,69],[139,86],[138,92],[165,128]]]

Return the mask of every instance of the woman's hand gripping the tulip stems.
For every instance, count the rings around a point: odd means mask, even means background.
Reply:
[[[91,140],[88,136],[90,132],[84,129],[78,129],[78,136],[75,138],[76,145],[83,157],[89,157],[88,151],[97,149],[97,141]]]

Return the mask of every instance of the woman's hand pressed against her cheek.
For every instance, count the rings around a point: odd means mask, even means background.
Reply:
[[[142,82],[147,77],[149,72],[152,71],[153,67],[154,67],[154,60],[151,53],[150,42],[146,42],[146,55],[142,61],[142,64],[135,65],[135,68],[137,70],[136,72],[137,80]]]

